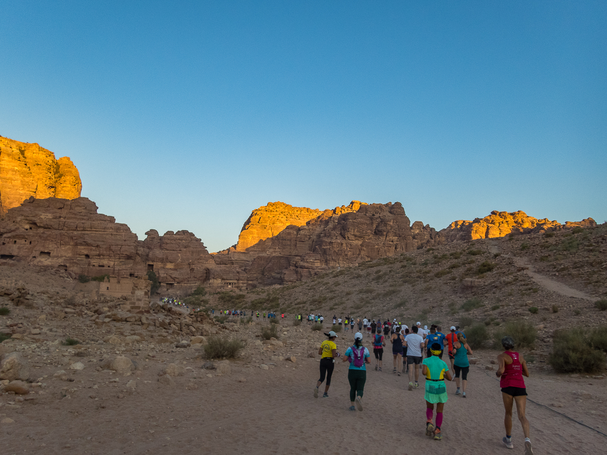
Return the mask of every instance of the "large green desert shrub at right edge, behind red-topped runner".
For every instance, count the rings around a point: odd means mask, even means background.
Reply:
[[[592,373],[605,368],[605,356],[595,349],[588,331],[582,328],[561,329],[554,332],[554,346],[548,363],[561,373]]]

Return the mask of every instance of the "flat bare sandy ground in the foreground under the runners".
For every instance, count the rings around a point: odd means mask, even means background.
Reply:
[[[338,348],[343,350],[346,343],[344,337],[341,340]],[[318,359],[275,362],[269,370],[237,360],[231,362],[231,374],[208,377],[200,360],[178,353],[159,354],[158,359],[191,366],[185,376],[174,378],[174,387],[158,383],[162,365],[154,362],[129,377],[87,367],[69,372],[74,381],[67,386],[51,376],[44,380],[46,393],[16,409],[6,404],[15,396],[5,394],[0,397],[0,420],[8,416],[15,422],[0,425],[0,453],[508,453],[501,443],[499,384],[494,372],[483,366],[496,352],[476,354],[481,364],[471,366],[468,397],[455,396],[455,383],[447,385],[441,441],[424,435],[423,380],[419,389],[407,391],[407,377],[392,374],[392,360],[383,372],[367,372],[364,411],[358,412],[348,409],[347,369],[341,362],[333,374],[330,397],[314,399]],[[56,369],[44,366],[38,371],[52,375]],[[607,380],[533,370],[531,376],[526,380],[529,398],[551,408],[527,402],[534,453],[603,453],[606,436],[554,411],[607,433]],[[126,383],[132,379],[137,386],[129,391]],[[523,433],[514,419],[513,452],[522,453]]]

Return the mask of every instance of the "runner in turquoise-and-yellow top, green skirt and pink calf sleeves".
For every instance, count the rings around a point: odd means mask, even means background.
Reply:
[[[413,331],[415,331],[415,327]],[[421,372],[426,376],[426,436],[434,437],[436,440],[443,439],[441,434],[441,425],[443,425],[443,408],[447,402],[447,387],[444,378],[451,379],[449,366],[439,359],[441,352],[439,343],[432,343],[430,346],[430,357],[422,362]],[[436,430],[432,425],[432,414],[434,412],[434,403],[436,403]]]

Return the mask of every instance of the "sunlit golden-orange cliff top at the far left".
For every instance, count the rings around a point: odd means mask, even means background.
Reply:
[[[80,174],[68,157],[55,160],[38,144],[0,136],[0,216],[31,196],[75,199],[81,190]]]

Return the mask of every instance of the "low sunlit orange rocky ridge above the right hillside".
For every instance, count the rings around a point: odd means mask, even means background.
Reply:
[[[454,240],[476,240],[478,238],[505,237],[509,234],[529,234],[530,232],[549,231],[561,227],[591,227],[597,223],[592,218],[578,222],[567,221],[561,225],[558,221],[550,221],[548,218],[538,219],[529,217],[523,211],[498,212],[494,210],[484,218],[475,218],[473,221],[457,220],[449,224],[445,229],[439,231],[439,235],[445,241]]]

